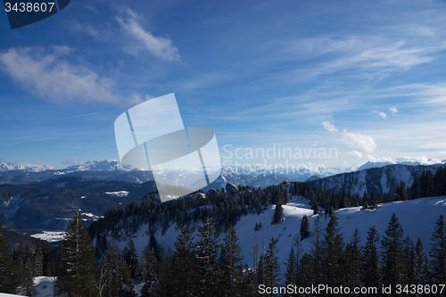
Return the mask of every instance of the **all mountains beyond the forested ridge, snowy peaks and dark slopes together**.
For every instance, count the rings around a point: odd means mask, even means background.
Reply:
[[[7,228],[65,229],[76,209],[82,210],[88,224],[106,210],[124,207],[156,189],[152,171],[126,169],[119,161],[89,161],[66,169],[4,164],[0,164],[3,168],[0,172],[0,221]],[[354,172],[333,175],[336,169],[332,169],[325,173],[330,176],[325,177],[310,171],[293,176],[273,169],[258,168],[254,171],[225,167],[220,177],[203,190],[226,188],[227,184],[264,188],[285,180],[308,180],[314,186],[333,192],[384,193],[395,191],[401,180],[409,186],[424,170],[436,172],[440,166],[444,165],[368,162]],[[176,174],[177,178],[189,178],[194,171],[179,170],[171,174]]]

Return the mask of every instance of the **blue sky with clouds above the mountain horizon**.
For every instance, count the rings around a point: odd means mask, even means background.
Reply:
[[[274,145],[335,148],[291,160],[328,167],[446,159],[445,18],[444,1],[71,0],[14,30],[0,13],[0,158],[119,159],[114,120],[175,93],[222,161]]]

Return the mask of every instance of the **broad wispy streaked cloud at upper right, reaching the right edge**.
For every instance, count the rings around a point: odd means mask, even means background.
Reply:
[[[446,48],[446,43],[420,44],[404,37],[395,41],[394,37],[384,34],[321,36],[282,43],[286,59],[310,61],[310,67],[285,74],[293,80],[308,80],[339,72],[348,78],[380,79],[392,71],[433,62],[433,55]],[[319,62],[320,58],[325,62]]]

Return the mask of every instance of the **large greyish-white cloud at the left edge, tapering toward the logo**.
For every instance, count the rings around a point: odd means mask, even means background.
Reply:
[[[141,95],[121,97],[113,92],[115,82],[78,63],[67,61],[73,53],[68,46],[52,50],[37,47],[14,47],[0,52],[0,70],[31,93],[53,103],[142,103]]]

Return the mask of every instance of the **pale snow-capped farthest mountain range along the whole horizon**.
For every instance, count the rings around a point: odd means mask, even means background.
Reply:
[[[442,163],[446,162],[443,160]],[[271,183],[283,180],[305,181],[310,177],[330,177],[340,173],[352,172],[355,170],[381,168],[387,165],[422,165],[419,161],[400,160],[395,162],[372,162],[368,161],[359,167],[333,167],[325,169],[299,169],[282,170],[272,167],[257,165],[256,167],[223,167],[222,180],[234,184],[249,186],[269,186]],[[432,161],[428,161],[428,165]],[[426,164],[425,164],[426,165]],[[170,174],[176,175],[178,180],[194,177],[194,170],[176,170]],[[85,178],[100,178],[105,180],[126,181],[129,183],[144,183],[153,180],[152,170],[142,170],[138,168],[126,168],[116,160],[87,161],[86,163],[71,165],[65,169],[54,169],[49,165],[41,164],[19,164],[0,162],[0,185],[15,184],[26,185],[36,183],[50,178],[62,176],[76,176]],[[274,176],[274,177],[272,177]],[[172,178],[169,177],[171,180]]]

